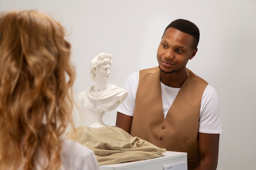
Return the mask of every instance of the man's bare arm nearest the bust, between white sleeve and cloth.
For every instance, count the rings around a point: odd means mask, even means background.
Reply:
[[[123,113],[117,112],[116,126],[122,128],[130,134],[132,126],[132,116],[124,115]]]

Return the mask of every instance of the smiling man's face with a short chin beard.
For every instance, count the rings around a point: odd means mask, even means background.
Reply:
[[[175,28],[165,31],[157,49],[159,68],[164,73],[174,73],[186,68],[187,62],[195,56],[192,50],[193,36]]]

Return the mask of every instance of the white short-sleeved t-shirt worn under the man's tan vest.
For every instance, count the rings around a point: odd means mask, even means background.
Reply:
[[[129,75],[125,81],[124,89],[128,91],[128,97],[117,107],[117,111],[128,116],[133,116],[135,99],[139,84],[139,71]],[[173,104],[173,101],[180,91],[180,88],[173,88],[161,82],[162,101],[164,117]],[[222,133],[219,101],[216,90],[209,84],[204,90],[201,100],[199,132],[201,133]]]

